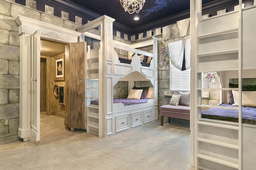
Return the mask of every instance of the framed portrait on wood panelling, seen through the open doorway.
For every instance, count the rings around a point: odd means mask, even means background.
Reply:
[[[55,66],[54,66],[54,80],[55,81],[61,81],[61,80],[65,80],[65,55],[58,55],[56,57],[54,57],[55,59]]]

